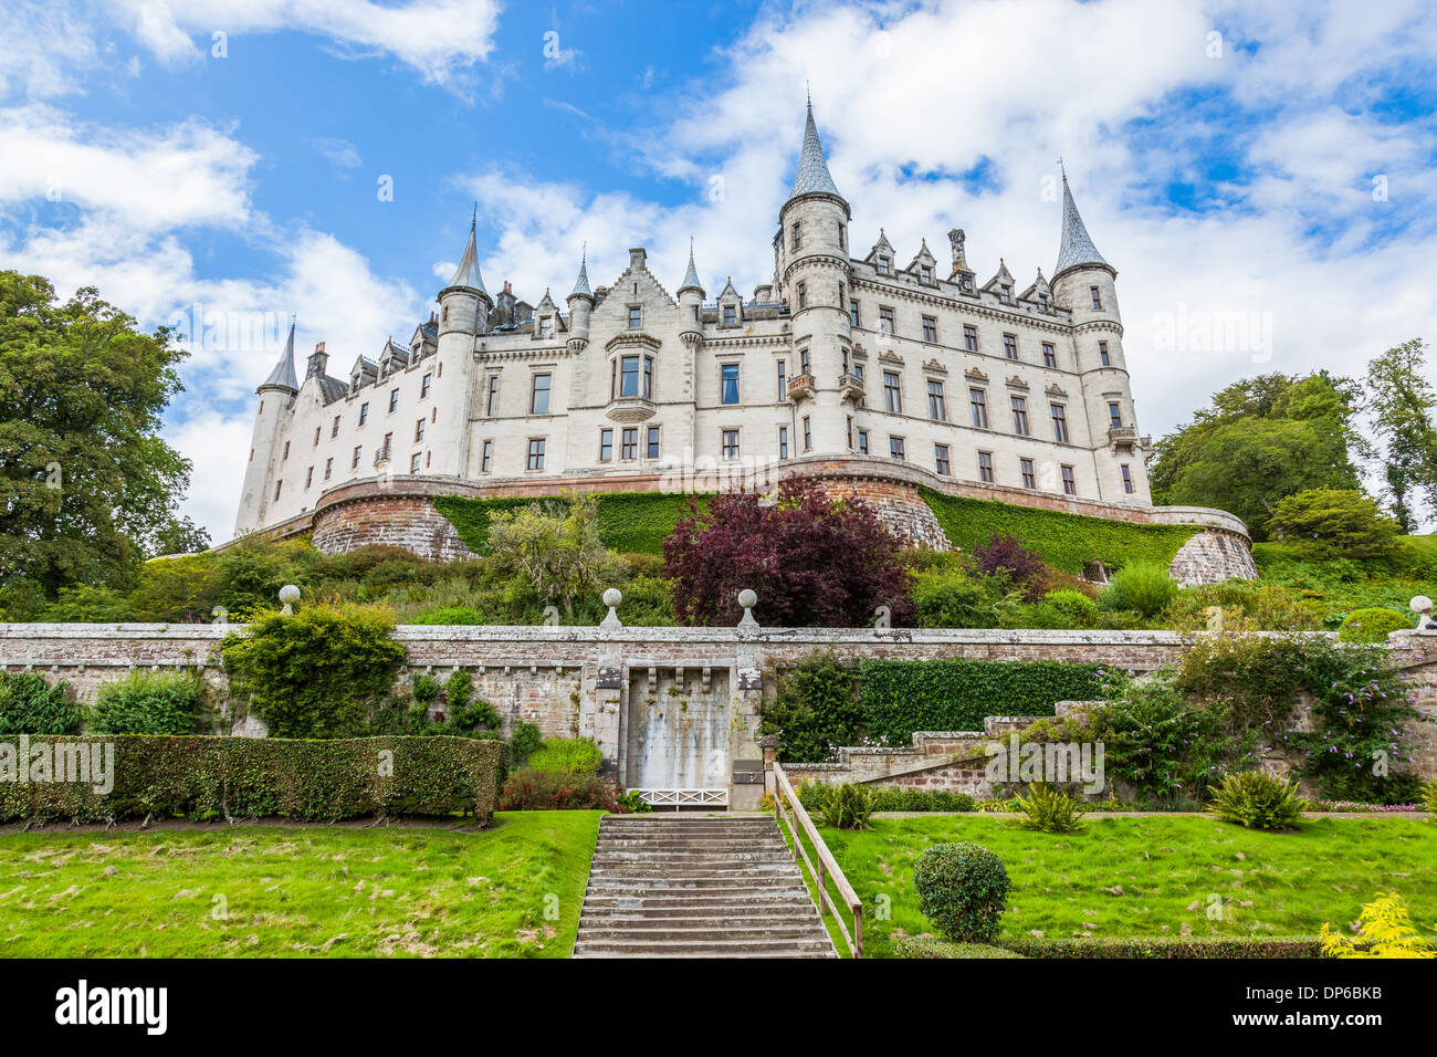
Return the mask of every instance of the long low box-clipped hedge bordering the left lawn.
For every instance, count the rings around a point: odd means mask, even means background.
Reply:
[[[19,739],[0,739],[0,821],[96,823],[149,815],[333,821],[473,813],[487,823],[503,754],[499,742],[468,738],[118,735],[34,738],[29,741],[32,758],[40,745],[52,758],[76,745],[114,745],[112,788],[96,792],[102,782],[93,777],[20,782],[14,765]],[[34,767],[30,774],[39,777]]]

